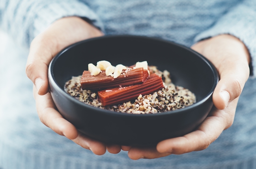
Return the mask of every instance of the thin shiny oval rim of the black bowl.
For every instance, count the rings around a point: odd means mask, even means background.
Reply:
[[[170,110],[167,112],[163,112],[163,113],[155,113],[155,114],[129,114],[129,113],[122,113],[122,112],[115,112],[112,110],[105,110],[105,109],[101,109],[98,107],[94,107],[92,105],[88,105],[86,103],[83,103],[77,99],[75,99],[74,97],[70,96],[69,94],[67,94],[64,91],[64,88],[62,88],[60,85],[58,85],[58,83],[56,82],[54,75],[53,75],[53,66],[54,63],[56,62],[56,60],[58,59],[58,57],[60,57],[60,55],[62,55],[62,53],[64,53],[65,51],[69,50],[70,48],[73,48],[74,46],[77,46],[78,44],[82,44],[84,42],[89,42],[92,40],[98,40],[98,39],[107,39],[107,38],[142,38],[142,39],[148,39],[148,40],[157,40],[157,41],[161,41],[161,42],[165,42],[165,43],[169,43],[175,46],[179,46],[180,48],[183,48],[185,50],[188,50],[194,54],[196,54],[198,57],[200,57],[200,59],[202,59],[204,62],[206,62],[208,64],[208,66],[211,68],[211,71],[213,72],[213,86],[210,90],[210,92],[199,102],[194,103],[193,105],[190,105],[188,107],[185,108],[181,108],[178,110]],[[209,97],[212,96],[213,91],[215,90],[215,87],[217,86],[217,83],[219,82],[219,73],[217,72],[215,66],[203,55],[201,55],[200,53],[192,50],[191,48],[188,48],[187,46],[184,46],[182,44],[178,44],[176,42],[170,41],[170,40],[164,40],[164,39],[160,39],[157,37],[148,37],[148,36],[142,36],[142,35],[104,35],[102,37],[94,37],[94,38],[90,38],[90,39],[86,39],[86,40],[82,40],[79,42],[76,42],[74,44],[71,44],[69,46],[67,46],[66,48],[64,48],[62,51],[60,51],[59,53],[57,53],[54,58],[52,59],[52,61],[49,64],[49,69],[48,69],[48,78],[49,78],[49,83],[50,81],[52,81],[53,83],[51,84],[55,90],[58,90],[58,92],[60,92],[63,96],[65,96],[67,99],[71,99],[71,101],[74,101],[76,104],[82,106],[82,107],[86,107],[89,110],[95,110],[98,113],[109,113],[109,115],[113,115],[113,116],[136,116],[136,117],[141,117],[141,116],[166,116],[166,114],[178,114],[178,113],[182,113],[184,112],[184,110],[190,110],[190,109],[194,109],[195,107],[198,107],[199,105],[202,105],[205,101],[207,101],[207,99],[209,99]]]

